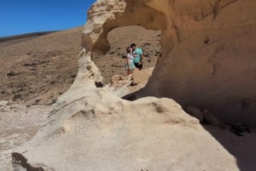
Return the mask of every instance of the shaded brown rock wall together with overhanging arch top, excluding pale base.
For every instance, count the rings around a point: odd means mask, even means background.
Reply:
[[[255,124],[255,8],[253,0],[98,1],[83,44],[105,53],[115,27],[159,29],[163,57],[138,97],[170,97],[227,123]]]

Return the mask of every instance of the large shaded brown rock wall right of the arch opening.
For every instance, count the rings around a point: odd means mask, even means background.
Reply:
[[[171,9],[164,12],[170,27],[162,31],[164,57],[142,94],[207,108],[225,123],[255,126],[256,2],[150,2],[160,11]]]

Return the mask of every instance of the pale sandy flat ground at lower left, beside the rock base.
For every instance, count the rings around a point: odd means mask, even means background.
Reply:
[[[2,105],[0,110],[0,171],[12,171],[11,152],[31,140],[48,117],[51,105]]]

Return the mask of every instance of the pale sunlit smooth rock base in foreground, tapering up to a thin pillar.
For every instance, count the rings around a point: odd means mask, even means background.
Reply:
[[[96,88],[97,71],[84,51],[78,77],[48,125],[12,153],[15,170],[238,170],[236,159],[175,101],[121,100]]]

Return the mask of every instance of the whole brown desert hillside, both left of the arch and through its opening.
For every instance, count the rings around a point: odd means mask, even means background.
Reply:
[[[50,105],[67,91],[78,72],[81,33],[78,27],[49,34],[10,37],[0,41],[0,100]],[[117,36],[120,35],[120,36]],[[125,75],[125,48],[131,43],[144,49],[145,68],[154,66],[160,56],[160,32],[143,27],[121,27],[108,35],[111,49],[95,54],[104,83],[113,75]]]

